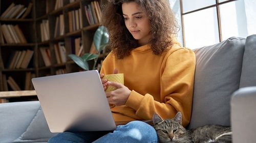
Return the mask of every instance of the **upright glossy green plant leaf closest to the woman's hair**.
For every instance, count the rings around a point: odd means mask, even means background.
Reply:
[[[93,37],[93,42],[95,45],[95,48],[98,52],[100,52],[100,45],[107,44],[109,42],[109,34],[108,30],[104,26],[100,26]]]

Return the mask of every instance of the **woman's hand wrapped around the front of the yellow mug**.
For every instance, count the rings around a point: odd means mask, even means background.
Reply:
[[[108,81],[106,84],[117,87],[116,90],[106,92],[108,102],[110,104],[115,104],[116,106],[125,105],[132,91],[126,86],[117,82]]]

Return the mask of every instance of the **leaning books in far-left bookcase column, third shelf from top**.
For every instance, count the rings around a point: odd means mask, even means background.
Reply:
[[[7,68],[28,68],[28,65],[32,59],[34,51],[32,50],[23,50],[23,51],[14,51],[7,63]]]

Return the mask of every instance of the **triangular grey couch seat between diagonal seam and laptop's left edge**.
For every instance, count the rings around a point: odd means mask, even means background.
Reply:
[[[50,132],[45,115],[40,107],[27,130],[14,142],[47,142],[54,135],[57,135],[57,133]]]

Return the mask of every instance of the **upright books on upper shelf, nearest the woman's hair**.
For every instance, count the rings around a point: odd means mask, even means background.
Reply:
[[[93,1],[91,4],[84,6],[86,11],[86,17],[89,25],[95,25],[99,23],[101,17],[101,9],[98,1]]]

